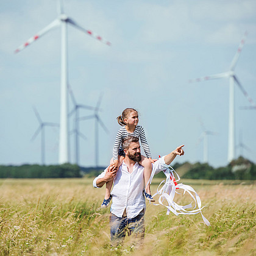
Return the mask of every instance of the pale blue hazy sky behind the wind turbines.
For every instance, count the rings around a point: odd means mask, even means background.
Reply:
[[[185,144],[175,162],[203,162],[202,132],[209,130],[208,162],[227,165],[229,80],[189,83],[189,79],[229,70],[241,38],[235,67],[256,102],[256,1],[254,0],[64,0],[64,12],[107,46],[68,26],[68,80],[77,103],[95,106],[99,116],[99,165],[107,166],[121,127],[116,117],[132,107],[140,114],[152,157]],[[0,164],[41,164],[39,123],[59,123],[60,27],[23,51],[18,46],[57,18],[57,1],[0,2]],[[236,157],[256,162],[256,109],[235,86]],[[69,101],[69,110],[73,103]],[[80,117],[90,110],[80,110]],[[75,162],[74,117],[69,118],[70,162]],[[80,121],[80,165],[95,165],[94,119]],[[58,164],[59,128],[45,127],[45,163]],[[239,147],[243,143],[246,149]]]

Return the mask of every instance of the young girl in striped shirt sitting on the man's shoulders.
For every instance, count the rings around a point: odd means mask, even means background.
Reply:
[[[118,116],[118,118],[116,119],[118,120],[118,124],[120,124],[123,127],[118,130],[118,133],[116,135],[115,145],[113,148],[113,158],[110,162],[110,168],[119,168],[119,166],[122,164],[124,160],[124,157],[126,156],[122,148],[122,140],[129,135],[139,137],[142,148],[146,153],[146,157],[144,157],[144,155],[141,155],[141,161],[139,163],[144,167],[144,181],[145,184],[148,184],[152,172],[151,163],[154,163],[155,160],[151,159],[151,152],[149,149],[148,142],[146,140],[144,129],[142,126],[138,126],[138,112],[133,108],[126,108],[123,111],[122,115]],[[105,197],[104,201],[101,204],[101,207],[108,207],[108,204],[110,203],[110,190],[112,188],[112,184],[113,180],[110,180],[109,182],[106,183]],[[148,185],[147,188],[145,188],[143,193],[144,196],[146,196],[146,199],[148,199],[151,202],[155,201],[151,196],[150,184]]]

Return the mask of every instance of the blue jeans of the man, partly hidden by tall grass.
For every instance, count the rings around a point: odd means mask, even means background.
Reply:
[[[134,233],[137,238],[144,238],[144,209],[134,218],[127,218],[126,214],[122,218],[110,213],[110,235],[112,241],[124,240],[126,236]]]

